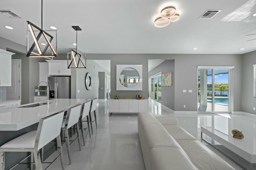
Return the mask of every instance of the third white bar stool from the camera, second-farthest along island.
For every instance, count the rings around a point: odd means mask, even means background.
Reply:
[[[81,114],[80,114],[80,118],[79,118],[79,121],[80,121],[80,126],[81,126],[81,131],[82,131],[82,138],[83,138],[83,142],[84,142],[84,146],[85,146],[85,141],[84,141],[84,130],[88,128],[89,130],[89,135],[91,137],[91,133],[90,133],[90,125],[89,125],[89,112],[90,112],[90,107],[91,107],[91,103],[92,101],[89,101],[89,102],[85,102],[83,103],[83,106],[82,106],[82,109],[81,109]],[[84,128],[83,127],[83,119],[87,117],[87,127]]]

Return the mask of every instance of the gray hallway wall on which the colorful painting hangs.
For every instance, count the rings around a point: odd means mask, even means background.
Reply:
[[[172,86],[162,86],[162,105],[169,107],[172,110],[175,110],[174,104],[175,104],[175,61],[174,60],[166,60],[163,63],[159,64],[148,72],[148,76],[154,76],[155,74],[158,74],[161,72],[161,74],[164,74],[166,72],[172,72]],[[150,84],[149,84],[150,86]]]

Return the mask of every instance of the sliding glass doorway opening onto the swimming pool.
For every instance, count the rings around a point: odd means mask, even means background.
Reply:
[[[198,111],[230,113],[232,68],[198,66]]]

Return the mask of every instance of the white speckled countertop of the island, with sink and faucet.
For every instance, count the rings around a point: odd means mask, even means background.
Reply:
[[[88,100],[90,99],[57,99],[57,102],[55,102],[55,99],[53,99],[50,100],[49,105],[21,108],[21,106],[30,105],[24,104],[2,108],[0,109],[0,131],[18,131],[38,123],[39,119],[43,117],[58,113],[62,110],[66,111],[69,107],[80,103],[82,104]]]

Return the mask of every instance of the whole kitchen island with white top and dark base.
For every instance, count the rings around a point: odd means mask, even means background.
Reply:
[[[76,104],[82,104],[88,100],[90,99],[53,99],[50,100],[49,105],[32,103],[0,108],[0,146],[15,137],[36,130],[41,118],[60,111],[67,111],[69,107],[75,106]],[[44,158],[50,156],[55,150],[55,142],[46,145],[44,149]],[[11,168],[28,155],[28,152],[7,152],[5,156],[5,168]],[[14,170],[26,169],[28,166],[29,165],[26,164],[19,165]]]

